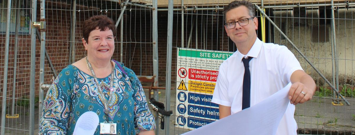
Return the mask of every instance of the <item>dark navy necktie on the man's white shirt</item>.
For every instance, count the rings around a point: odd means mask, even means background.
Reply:
[[[243,78],[243,96],[242,96],[242,110],[250,107],[250,71],[249,71],[249,61],[253,57],[245,59],[243,57],[242,61],[244,63],[244,78]]]

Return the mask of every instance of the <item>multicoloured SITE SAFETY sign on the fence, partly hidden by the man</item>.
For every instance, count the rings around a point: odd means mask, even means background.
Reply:
[[[176,63],[175,125],[195,129],[219,119],[211,103],[220,64],[233,52],[178,49]]]

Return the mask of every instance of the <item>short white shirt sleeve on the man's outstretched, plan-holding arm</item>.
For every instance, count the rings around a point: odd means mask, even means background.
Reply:
[[[302,70],[300,62],[297,60],[295,55],[287,49],[286,46],[281,46],[279,49],[279,73],[284,81],[284,84],[291,82],[291,75],[296,70]],[[285,82],[287,81],[287,82]]]

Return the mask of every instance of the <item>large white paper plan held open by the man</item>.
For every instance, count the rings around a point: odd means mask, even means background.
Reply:
[[[182,135],[275,135],[291,83],[260,103]]]

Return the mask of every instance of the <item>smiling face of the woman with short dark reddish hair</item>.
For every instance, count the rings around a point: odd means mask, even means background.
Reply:
[[[115,50],[113,32],[110,29],[100,31],[95,29],[90,32],[88,41],[82,39],[88,57],[93,60],[110,60]]]

